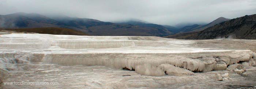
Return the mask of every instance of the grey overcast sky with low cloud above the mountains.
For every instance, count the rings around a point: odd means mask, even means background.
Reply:
[[[174,26],[256,14],[256,0],[0,0],[1,15],[15,12]]]

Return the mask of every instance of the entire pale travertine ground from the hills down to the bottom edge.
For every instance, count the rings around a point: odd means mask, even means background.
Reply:
[[[256,40],[0,35],[1,88],[256,88]]]

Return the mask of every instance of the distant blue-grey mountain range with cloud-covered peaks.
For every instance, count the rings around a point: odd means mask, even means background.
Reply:
[[[58,27],[81,31],[90,35],[112,36],[167,36],[182,32],[202,31],[215,24],[225,22],[226,18],[218,18],[206,25],[192,25],[176,28],[168,25],[131,19],[123,22],[102,22],[96,19],[71,18],[69,16],[47,17],[37,13],[13,13],[0,15],[2,28],[44,28]]]

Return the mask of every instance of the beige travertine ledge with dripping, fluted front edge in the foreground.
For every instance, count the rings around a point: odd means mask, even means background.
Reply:
[[[201,52],[201,53],[1,53],[2,62],[26,63],[45,62],[61,65],[106,66],[116,69],[135,70],[147,76],[209,72],[212,70],[236,69],[237,63],[255,62],[253,52],[249,50]],[[14,62],[13,62],[14,61]],[[235,64],[235,65],[234,65]],[[3,67],[2,67],[3,68]],[[152,72],[153,71],[153,72]],[[193,71],[193,72],[192,72]]]

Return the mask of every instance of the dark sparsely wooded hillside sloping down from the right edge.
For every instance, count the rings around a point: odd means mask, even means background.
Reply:
[[[217,21],[215,20],[214,22]],[[210,24],[213,24],[213,22]],[[256,39],[256,14],[231,19],[226,22],[216,24],[212,27],[208,27],[200,32],[188,32],[169,35],[166,37],[177,39]]]

